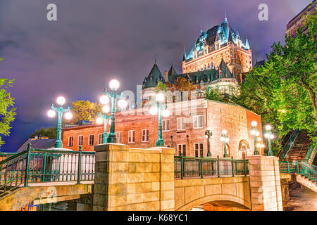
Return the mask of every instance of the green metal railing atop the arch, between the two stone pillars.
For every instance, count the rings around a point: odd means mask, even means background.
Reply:
[[[174,157],[175,179],[208,178],[220,176],[237,176],[249,174],[248,160],[233,158],[194,158]]]

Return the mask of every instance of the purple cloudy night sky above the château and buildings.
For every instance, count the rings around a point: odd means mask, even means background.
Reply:
[[[309,0],[0,0],[0,76],[15,79],[17,117],[2,151],[15,151],[42,126],[56,124],[46,110],[56,96],[67,103],[97,101],[108,81],[136,90],[154,63],[161,72],[180,60],[199,30],[223,22],[225,11],[258,60],[284,38],[290,19]],[[46,6],[58,21],[46,20]],[[268,21],[258,19],[268,4]]]

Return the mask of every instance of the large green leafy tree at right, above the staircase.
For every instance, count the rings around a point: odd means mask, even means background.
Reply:
[[[285,35],[285,45],[273,44],[268,60],[253,68],[240,84],[240,95],[232,101],[261,115],[262,122],[273,124],[278,140],[292,129],[307,129],[317,143],[316,124],[316,14],[306,15],[303,27],[294,37]]]

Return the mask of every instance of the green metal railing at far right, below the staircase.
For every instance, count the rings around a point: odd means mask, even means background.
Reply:
[[[282,161],[280,162],[280,173],[300,174],[311,181],[317,182],[317,167],[304,161]]]

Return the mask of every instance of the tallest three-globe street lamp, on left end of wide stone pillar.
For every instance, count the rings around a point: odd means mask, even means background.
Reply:
[[[118,100],[118,107],[119,108],[126,108],[128,103],[127,101],[125,101],[123,93],[121,93],[120,95],[116,94],[116,91],[118,90],[120,84],[118,82],[118,80],[113,79],[111,80],[111,82],[109,82],[109,86],[111,88],[111,93],[109,93],[108,91],[106,91],[106,89],[104,89],[103,94],[104,96],[101,96],[100,100],[101,100],[101,104],[107,104],[110,102],[111,99],[111,116],[110,116],[110,132],[109,135],[107,137],[107,143],[116,143],[116,102]],[[109,99],[110,98],[110,99]]]

